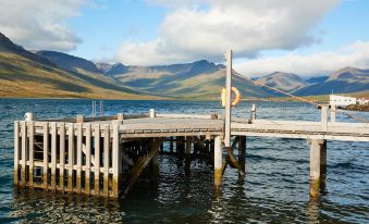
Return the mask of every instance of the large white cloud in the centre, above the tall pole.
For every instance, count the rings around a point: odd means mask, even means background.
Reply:
[[[156,39],[124,41],[118,59],[127,64],[169,64],[220,60],[227,48],[236,57],[262,50],[295,49],[319,41],[317,22],[337,0],[148,0],[169,7]]]

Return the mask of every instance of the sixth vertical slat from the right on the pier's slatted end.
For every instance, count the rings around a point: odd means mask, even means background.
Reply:
[[[67,125],[67,191],[73,192],[74,125]]]

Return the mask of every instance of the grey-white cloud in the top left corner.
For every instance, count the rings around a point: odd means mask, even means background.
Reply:
[[[65,25],[85,0],[0,0],[0,32],[28,49],[69,51],[79,38]]]

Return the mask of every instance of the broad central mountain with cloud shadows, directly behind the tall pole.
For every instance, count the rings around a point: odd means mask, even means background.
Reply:
[[[217,99],[225,84],[225,67],[206,60],[161,66],[126,66],[114,64],[106,74],[125,86],[147,95],[174,98]],[[234,77],[244,98],[265,98],[274,92]]]

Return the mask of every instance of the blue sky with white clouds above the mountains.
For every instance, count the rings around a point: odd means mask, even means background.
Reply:
[[[369,69],[367,0],[0,0],[0,32],[27,49],[157,65],[227,48],[245,75]]]

